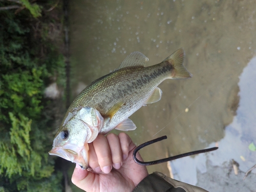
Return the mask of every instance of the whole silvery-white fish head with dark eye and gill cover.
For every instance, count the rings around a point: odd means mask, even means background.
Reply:
[[[87,169],[88,143],[97,137],[103,121],[99,111],[94,108],[78,107],[73,109],[59,128],[49,154],[75,162]]]

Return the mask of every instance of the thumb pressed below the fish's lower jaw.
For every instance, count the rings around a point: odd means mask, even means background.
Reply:
[[[94,174],[92,172],[83,170],[78,164],[76,164],[74,173],[71,178],[72,183],[74,183],[77,187],[86,190],[88,187],[90,187],[90,183],[93,183],[93,180]]]

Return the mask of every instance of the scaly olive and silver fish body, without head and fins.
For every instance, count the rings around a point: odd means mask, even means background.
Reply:
[[[93,107],[104,116],[113,105],[124,101],[125,105],[117,111],[110,123],[101,129],[101,133],[109,132],[120,121],[122,122],[137,111],[150,97],[155,87],[168,78],[170,68],[162,65],[164,63],[149,67],[132,66],[116,70],[84,89],[69,110],[79,106]]]

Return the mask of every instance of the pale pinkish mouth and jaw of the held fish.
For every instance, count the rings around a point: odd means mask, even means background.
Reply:
[[[65,145],[61,147],[53,147],[49,151],[50,155],[56,155],[68,161],[79,164],[82,169],[88,169],[88,143],[85,143],[82,147],[73,145]]]

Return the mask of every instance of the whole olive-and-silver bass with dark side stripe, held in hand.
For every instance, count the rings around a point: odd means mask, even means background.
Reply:
[[[161,63],[145,66],[148,58],[140,52],[128,55],[119,67],[84,88],[68,108],[53,140],[50,155],[89,168],[89,146],[98,134],[113,129],[131,131],[136,125],[128,117],[142,106],[158,102],[165,79],[187,79],[181,48]]]

